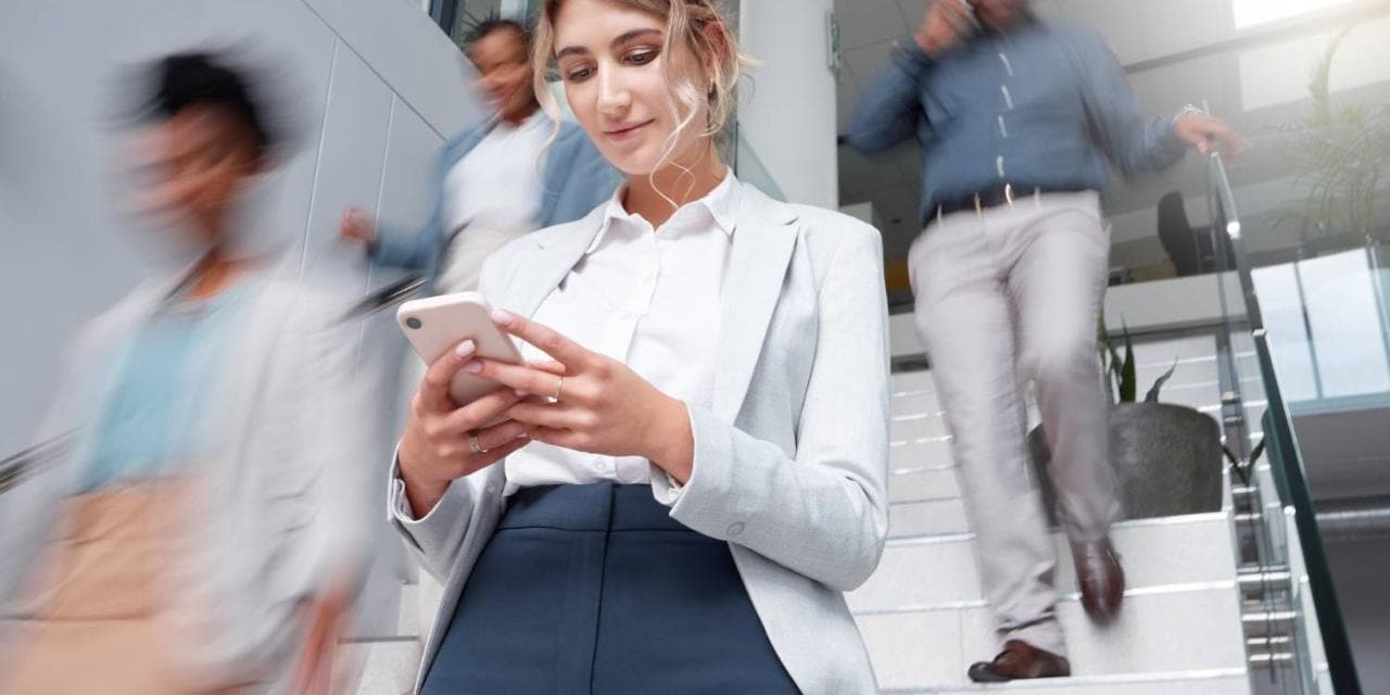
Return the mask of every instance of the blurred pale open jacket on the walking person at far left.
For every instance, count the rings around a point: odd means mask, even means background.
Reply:
[[[58,527],[90,455],[81,432],[103,413],[125,350],[181,278],[138,286],[70,350],[39,439],[76,430],[78,443],[0,495],[0,606],[24,591]],[[364,569],[379,489],[371,461],[379,450],[363,427],[374,403],[356,374],[360,327],[336,324],[343,297],[267,277],[246,299],[225,373],[204,385],[222,446],[200,467],[206,485],[195,492],[185,562],[163,577],[175,605],[163,637],[185,676],[208,687],[228,674],[284,676],[300,602]],[[4,638],[0,630],[0,655]]]

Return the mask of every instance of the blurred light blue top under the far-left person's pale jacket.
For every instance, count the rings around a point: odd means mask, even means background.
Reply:
[[[82,492],[178,473],[215,446],[215,375],[252,279],[206,300],[171,297],[140,327],[92,431]]]

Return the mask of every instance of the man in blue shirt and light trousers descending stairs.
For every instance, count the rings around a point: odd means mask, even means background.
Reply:
[[[924,231],[908,256],[917,334],[954,435],[980,574],[1004,651],[976,681],[1068,676],[1056,564],[1024,449],[1037,388],[1081,603],[1115,619],[1125,575],[1095,325],[1109,231],[1106,158],[1159,171],[1187,147],[1234,149],[1188,107],[1147,120],[1093,32],[1048,26],[1026,0],[935,0],[855,108],[847,139],[878,152],[916,136]]]

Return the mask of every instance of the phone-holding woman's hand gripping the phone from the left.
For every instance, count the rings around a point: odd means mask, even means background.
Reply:
[[[491,423],[521,402],[514,389],[496,391],[459,406],[449,396],[455,374],[473,359],[473,341],[463,341],[430,366],[410,400],[410,418],[400,438],[400,480],[416,518],[423,518],[457,478],[486,468],[531,443],[525,425],[514,420]],[[477,438],[475,452],[470,438]]]

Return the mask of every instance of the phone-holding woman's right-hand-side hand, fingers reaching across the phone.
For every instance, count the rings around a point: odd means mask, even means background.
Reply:
[[[518,395],[541,396],[505,413],[525,424],[531,439],[606,456],[642,456],[677,482],[689,480],[695,441],[685,403],[553,328],[507,311],[493,311],[492,321],[556,360],[518,366],[474,359],[463,367]]]

